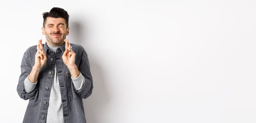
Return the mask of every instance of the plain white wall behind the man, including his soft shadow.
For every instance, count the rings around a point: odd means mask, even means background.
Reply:
[[[21,123],[25,50],[42,13],[70,14],[94,80],[88,123],[255,123],[254,0],[8,0],[0,3],[1,123]]]

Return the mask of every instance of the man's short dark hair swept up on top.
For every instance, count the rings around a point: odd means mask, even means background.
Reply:
[[[46,18],[64,18],[67,28],[69,27],[69,14],[63,8],[53,7],[50,12],[44,12],[43,14],[43,27],[45,27]]]

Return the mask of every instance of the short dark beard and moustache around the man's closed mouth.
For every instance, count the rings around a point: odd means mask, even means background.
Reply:
[[[49,41],[50,45],[53,46],[61,46],[64,43],[64,39],[66,38],[66,33],[62,34],[62,33],[46,33],[46,40]],[[58,38],[52,37],[52,34],[59,34],[61,35]]]

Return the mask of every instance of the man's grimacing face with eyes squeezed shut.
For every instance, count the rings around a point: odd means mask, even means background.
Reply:
[[[42,27],[42,34],[46,37],[46,43],[52,46],[61,46],[69,34],[64,18],[47,17],[45,27]]]

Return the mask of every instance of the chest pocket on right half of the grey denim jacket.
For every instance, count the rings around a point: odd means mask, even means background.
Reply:
[[[77,99],[77,93],[74,90],[74,84],[71,79],[71,73],[67,72],[67,83],[68,83],[68,96],[69,96],[69,101]]]

